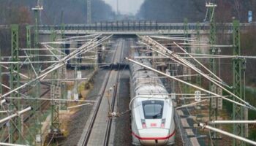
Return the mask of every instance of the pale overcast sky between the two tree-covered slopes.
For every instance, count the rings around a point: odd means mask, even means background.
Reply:
[[[117,0],[103,0],[116,11]],[[136,14],[144,0],[118,0],[118,10],[121,14]]]

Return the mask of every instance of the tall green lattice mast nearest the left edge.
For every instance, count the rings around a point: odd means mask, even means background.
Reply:
[[[18,41],[18,25],[14,24],[11,26],[11,38],[12,38],[12,44],[11,44],[11,55],[12,55],[12,61],[19,61],[19,41]],[[20,65],[17,64],[10,64],[10,88],[11,90],[18,88],[20,86]],[[13,92],[10,94],[11,97],[20,97],[20,93]],[[20,100],[13,100],[10,99],[10,111],[16,111],[20,110]],[[9,142],[13,143],[15,142],[15,129],[17,128],[18,131],[20,131],[21,123],[20,123],[20,117],[13,119],[12,121],[9,121],[10,124],[10,135],[9,135]],[[18,137],[20,142],[21,134],[18,132]]]

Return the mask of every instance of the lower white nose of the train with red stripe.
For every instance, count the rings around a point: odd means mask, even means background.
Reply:
[[[139,130],[141,145],[166,145],[170,138],[169,130],[164,128],[146,128]]]

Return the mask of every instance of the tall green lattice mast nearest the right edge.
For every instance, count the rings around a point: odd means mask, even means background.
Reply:
[[[239,21],[233,20],[233,55],[241,55]],[[244,99],[242,85],[242,61],[241,58],[233,58],[233,93]],[[238,101],[233,97],[234,101]],[[233,120],[244,120],[244,108],[233,104]],[[244,137],[244,125],[233,124],[233,134]],[[233,145],[243,146],[244,142],[233,139]]]

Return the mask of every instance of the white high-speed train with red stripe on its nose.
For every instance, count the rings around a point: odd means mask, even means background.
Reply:
[[[138,55],[138,53],[134,53]],[[151,66],[146,59],[136,59]],[[175,124],[173,102],[157,73],[130,64],[130,94],[133,145],[173,145]]]

